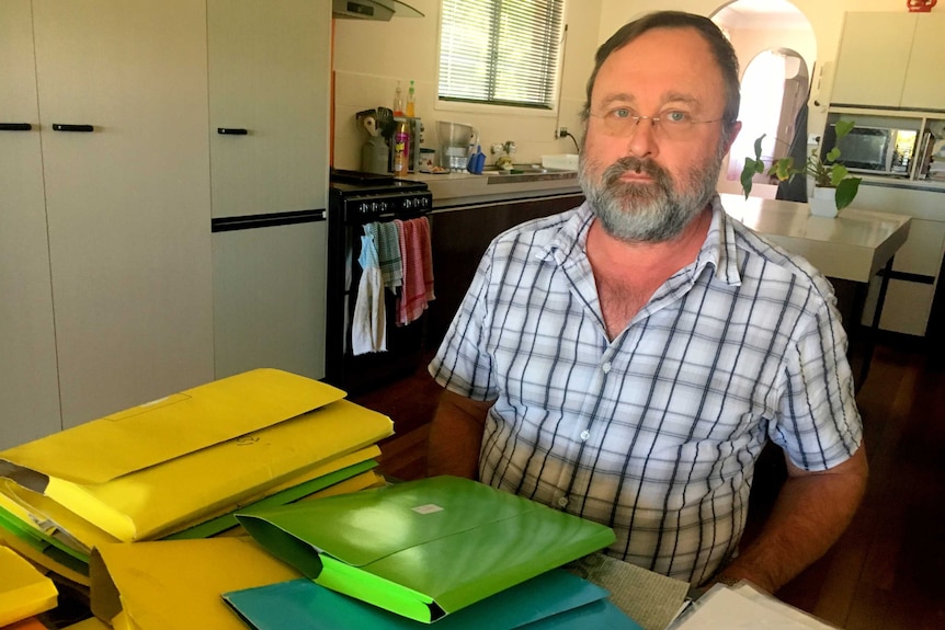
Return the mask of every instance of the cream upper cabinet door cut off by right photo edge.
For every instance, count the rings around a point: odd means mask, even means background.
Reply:
[[[945,13],[919,15],[902,106],[945,110]]]

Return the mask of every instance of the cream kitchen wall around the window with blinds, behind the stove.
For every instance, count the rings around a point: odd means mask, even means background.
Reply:
[[[558,126],[580,138],[579,113],[584,104],[584,87],[593,68],[599,45],[601,0],[570,0],[565,21],[563,80],[559,112],[508,108],[476,108],[453,105],[441,108],[436,101],[440,1],[410,0],[425,16],[394,18],[390,22],[334,21],[334,151],[333,165],[357,169],[365,131],[357,128],[354,114],[377,106],[389,107],[400,80],[405,98],[410,80],[417,87],[417,115],[425,127],[423,146],[439,149],[436,121],[466,123],[479,129],[482,150],[489,145],[513,140],[515,161],[540,160],[546,153],[574,152],[570,138],[555,138]]]

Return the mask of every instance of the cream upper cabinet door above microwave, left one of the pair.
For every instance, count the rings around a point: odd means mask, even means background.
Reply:
[[[914,32],[914,13],[847,13],[830,102],[898,107]]]

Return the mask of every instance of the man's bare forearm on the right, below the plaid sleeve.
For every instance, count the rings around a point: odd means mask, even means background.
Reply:
[[[774,593],[823,555],[856,513],[866,490],[863,446],[829,470],[809,472],[787,458],[787,481],[761,534],[722,579],[745,579]]]

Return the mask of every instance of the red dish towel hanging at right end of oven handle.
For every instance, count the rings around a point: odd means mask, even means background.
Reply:
[[[403,261],[403,287],[397,298],[397,325],[415,321],[433,295],[433,254],[430,249],[430,224],[425,217],[400,225],[400,257]]]

